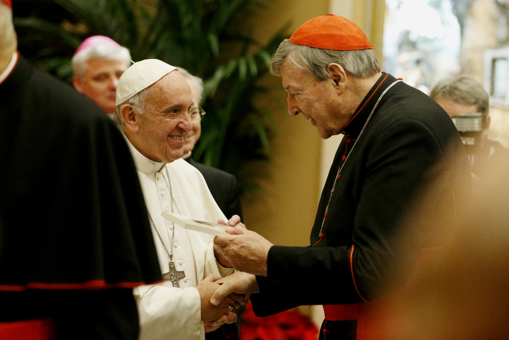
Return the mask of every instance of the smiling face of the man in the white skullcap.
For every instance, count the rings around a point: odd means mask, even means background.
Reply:
[[[171,163],[184,154],[184,136],[191,131],[191,88],[177,71],[150,87],[145,112],[137,115],[136,147],[145,157]]]

